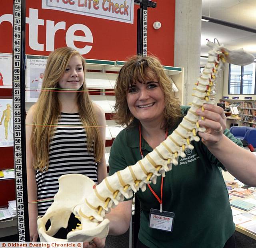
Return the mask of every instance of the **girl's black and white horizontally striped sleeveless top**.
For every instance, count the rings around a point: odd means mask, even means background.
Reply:
[[[60,125],[60,126],[59,126]],[[93,149],[87,150],[87,137],[80,116],[61,113],[58,126],[49,144],[49,167],[47,171],[36,171],[38,188],[38,215],[42,216],[52,204],[44,201],[58,192],[58,178],[64,174],[79,173],[97,183],[97,163]]]

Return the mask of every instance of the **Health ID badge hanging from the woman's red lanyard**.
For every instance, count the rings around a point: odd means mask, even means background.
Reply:
[[[162,211],[158,209],[150,209],[149,213],[149,227],[166,231],[172,232],[174,222],[174,213]]]

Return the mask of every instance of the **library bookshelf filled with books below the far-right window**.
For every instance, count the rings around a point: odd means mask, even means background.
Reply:
[[[237,107],[240,115],[240,126],[256,128],[256,100],[220,99],[226,108]]]

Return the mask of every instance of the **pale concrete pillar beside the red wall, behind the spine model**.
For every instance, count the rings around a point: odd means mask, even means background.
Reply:
[[[174,66],[184,68],[182,104],[192,102],[200,73],[202,0],[175,1]]]

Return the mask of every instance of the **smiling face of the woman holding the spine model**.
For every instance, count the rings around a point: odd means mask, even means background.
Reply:
[[[164,92],[151,70],[144,80],[130,85],[126,100],[130,112],[141,123],[164,118]]]

